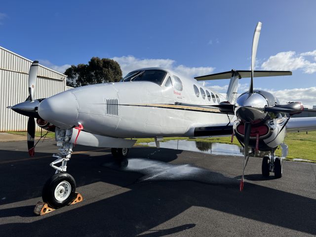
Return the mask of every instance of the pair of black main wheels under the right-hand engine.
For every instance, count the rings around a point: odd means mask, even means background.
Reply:
[[[282,159],[280,157],[266,156],[262,159],[262,175],[268,177],[270,172],[275,173],[276,178],[282,177]]]

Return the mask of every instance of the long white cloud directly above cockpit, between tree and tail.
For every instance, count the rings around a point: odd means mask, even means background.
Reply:
[[[184,65],[176,66],[176,62],[172,59],[139,59],[134,56],[114,57],[122,70],[123,76],[127,73],[140,68],[162,67],[170,69],[180,75],[186,77],[195,77],[210,74],[214,71],[213,67],[186,67]]]

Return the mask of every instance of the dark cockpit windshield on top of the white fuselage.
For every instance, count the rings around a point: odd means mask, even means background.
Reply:
[[[134,71],[127,74],[122,81],[152,81],[161,85],[166,74],[166,72],[161,70]]]

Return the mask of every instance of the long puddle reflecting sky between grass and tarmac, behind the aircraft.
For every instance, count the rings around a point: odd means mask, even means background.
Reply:
[[[140,143],[150,147],[156,147],[155,142]],[[213,155],[243,156],[243,148],[234,144],[224,144],[217,142],[197,142],[188,140],[170,140],[160,142],[161,148],[201,152]]]

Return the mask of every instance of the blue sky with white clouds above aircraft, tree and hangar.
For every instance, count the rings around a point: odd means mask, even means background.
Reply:
[[[157,65],[193,77],[249,69],[261,21],[257,69],[293,76],[258,78],[255,87],[316,105],[315,9],[314,0],[12,0],[1,3],[0,46],[56,70],[98,56],[116,59],[123,73]]]

